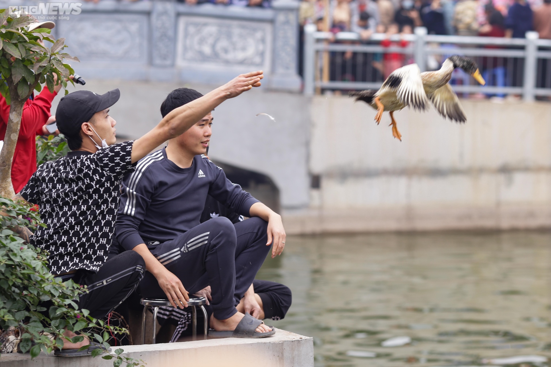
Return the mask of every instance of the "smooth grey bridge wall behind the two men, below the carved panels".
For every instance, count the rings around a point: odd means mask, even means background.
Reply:
[[[213,86],[128,80],[88,80],[69,91],[91,90],[102,94],[119,88],[120,100],[111,108],[117,121],[117,135],[136,139],[161,120],[159,108],[170,91],[192,87],[203,94]],[[60,97],[56,97],[52,114]],[[247,91],[225,101],[213,111],[214,125],[209,156],[266,174],[279,188],[283,209],[307,207],[309,202],[308,136],[309,98],[295,93],[276,92],[266,87]],[[276,119],[272,122],[268,113]]]

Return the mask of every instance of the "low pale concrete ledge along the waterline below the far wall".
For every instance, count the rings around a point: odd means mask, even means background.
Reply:
[[[547,203],[310,209],[283,213],[287,234],[551,228]]]

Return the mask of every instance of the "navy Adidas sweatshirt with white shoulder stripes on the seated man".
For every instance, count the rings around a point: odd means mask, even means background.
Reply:
[[[164,149],[153,152],[123,180],[118,242],[125,250],[141,243],[153,250],[176,238],[199,225],[207,195],[247,217],[251,205],[258,202],[204,155],[195,156],[191,167],[180,168],[166,158]]]

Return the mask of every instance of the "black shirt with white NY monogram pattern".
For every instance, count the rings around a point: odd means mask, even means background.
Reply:
[[[50,253],[54,274],[85,269],[96,272],[107,260],[115,231],[123,175],[131,171],[133,141],[92,154],[72,151],[46,162],[21,190],[40,206],[39,227],[31,243]]]

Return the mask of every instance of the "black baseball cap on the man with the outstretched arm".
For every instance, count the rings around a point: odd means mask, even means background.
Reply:
[[[88,122],[94,113],[114,105],[121,92],[117,89],[106,94],[96,94],[89,90],[77,90],[61,98],[56,109],[57,128],[64,135],[74,135],[80,126]]]

